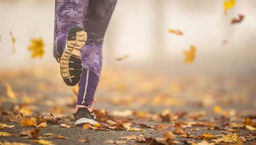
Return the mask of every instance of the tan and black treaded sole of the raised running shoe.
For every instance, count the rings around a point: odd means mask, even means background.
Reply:
[[[68,86],[75,86],[83,73],[81,49],[87,40],[87,33],[79,26],[73,26],[67,33],[67,48],[61,55],[61,77]]]

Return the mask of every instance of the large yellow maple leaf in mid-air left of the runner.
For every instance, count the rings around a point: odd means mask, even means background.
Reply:
[[[42,58],[44,55],[44,41],[42,38],[32,38],[31,44],[28,46],[28,50],[32,51],[31,58]]]

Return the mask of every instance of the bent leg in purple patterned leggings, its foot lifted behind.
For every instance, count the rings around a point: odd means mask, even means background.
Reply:
[[[58,60],[64,51],[67,32],[72,26],[83,27],[89,0],[55,0],[53,55]]]

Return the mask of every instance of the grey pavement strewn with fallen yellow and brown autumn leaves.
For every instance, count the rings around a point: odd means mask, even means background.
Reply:
[[[75,127],[77,87],[66,86],[58,69],[2,71],[0,142],[253,144],[255,80],[103,70],[94,104],[100,124]]]

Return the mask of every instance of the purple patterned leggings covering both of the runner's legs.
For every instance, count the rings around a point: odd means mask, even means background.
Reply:
[[[87,32],[87,41],[81,50],[83,73],[79,81],[77,104],[90,107],[102,69],[102,43],[116,0],[55,0],[53,55],[61,58],[72,26],[81,26]]]

